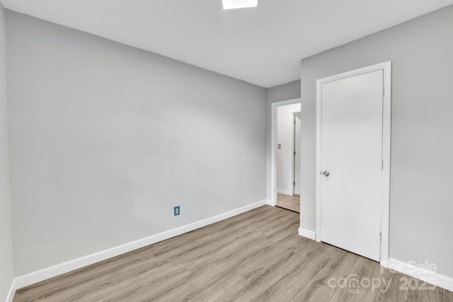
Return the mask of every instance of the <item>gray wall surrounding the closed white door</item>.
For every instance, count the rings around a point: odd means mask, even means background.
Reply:
[[[390,257],[453,277],[453,6],[302,60],[301,226],[315,229],[316,79],[393,62]]]

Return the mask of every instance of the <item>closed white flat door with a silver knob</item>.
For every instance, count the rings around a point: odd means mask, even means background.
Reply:
[[[383,71],[321,93],[321,241],[379,261]]]

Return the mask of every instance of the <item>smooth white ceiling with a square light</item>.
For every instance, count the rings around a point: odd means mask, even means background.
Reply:
[[[1,0],[13,11],[263,87],[300,79],[300,59],[453,0]]]

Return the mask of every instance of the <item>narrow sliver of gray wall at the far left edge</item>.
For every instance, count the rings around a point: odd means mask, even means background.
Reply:
[[[0,4],[0,301],[13,281],[13,248],[8,197],[8,130],[6,114],[5,16]]]

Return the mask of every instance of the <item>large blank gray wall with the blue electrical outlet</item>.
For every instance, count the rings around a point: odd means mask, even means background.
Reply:
[[[16,276],[266,198],[265,88],[11,11],[6,37]]]

